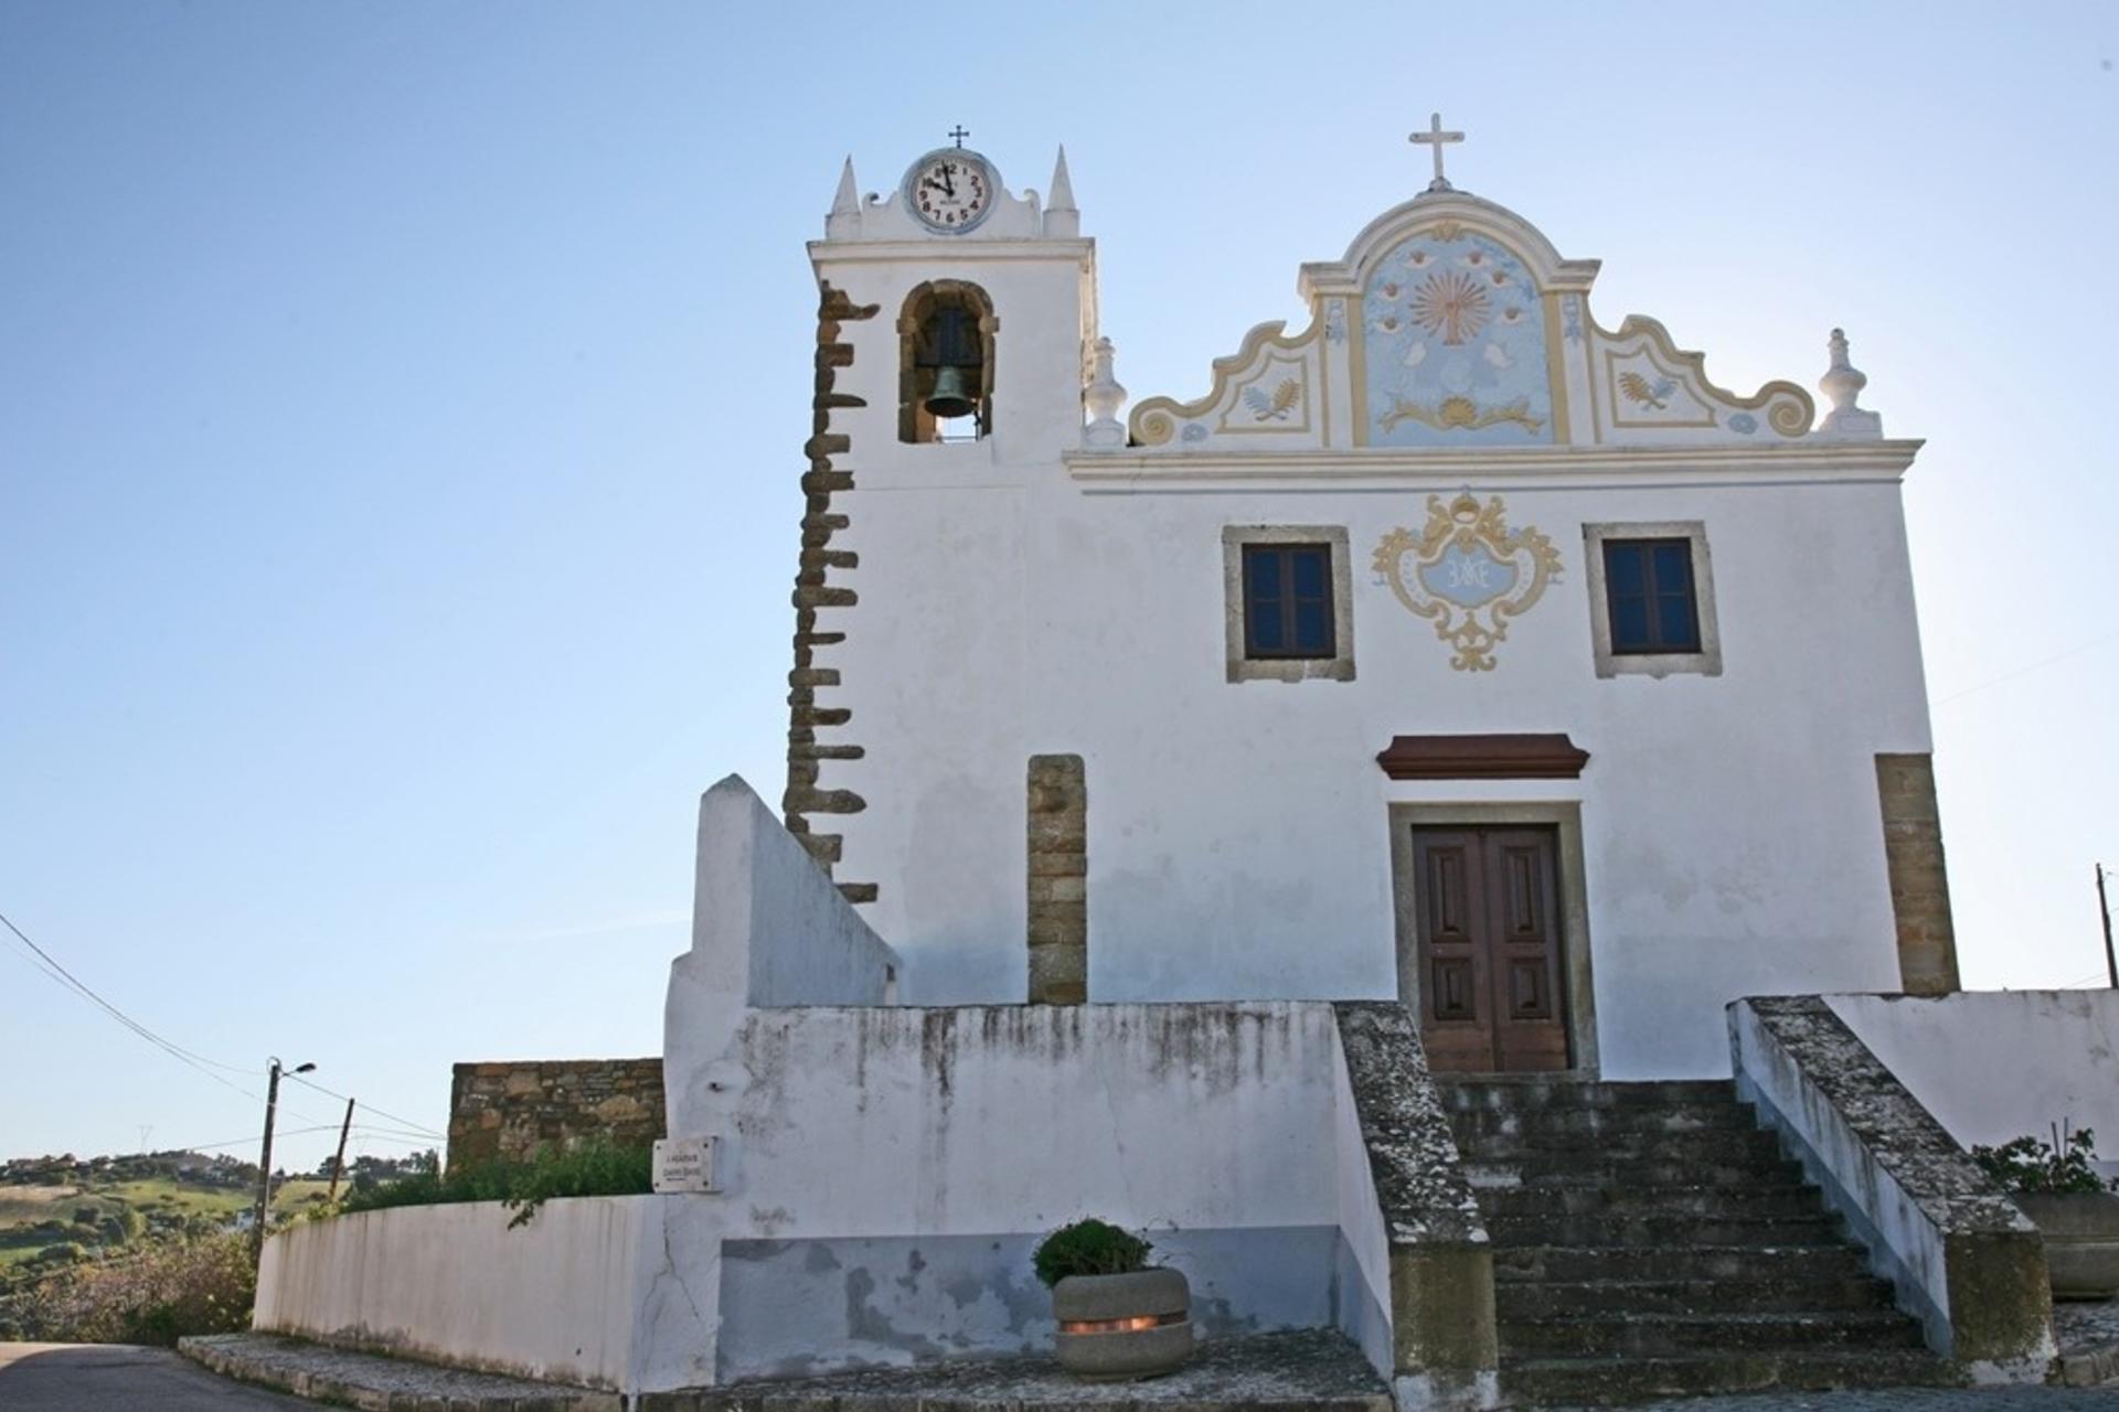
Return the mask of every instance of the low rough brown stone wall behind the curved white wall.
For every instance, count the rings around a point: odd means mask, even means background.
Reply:
[[[661,1058],[523,1058],[456,1065],[449,1166],[528,1160],[583,1137],[653,1143],[663,1133]]]

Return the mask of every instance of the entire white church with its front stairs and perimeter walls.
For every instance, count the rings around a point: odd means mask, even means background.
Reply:
[[[659,1061],[458,1067],[451,1162],[648,1114],[655,1192],[290,1228],[254,1327],[1064,1408],[1030,1253],[1100,1217],[1189,1281],[1187,1406],[2047,1378],[1966,1145],[2119,1133],[2119,991],[1958,986],[1920,442],[1839,330],[1820,409],[1606,328],[1449,138],[1303,328],[1129,409],[1064,155],[848,163],[782,811],[701,798]]]

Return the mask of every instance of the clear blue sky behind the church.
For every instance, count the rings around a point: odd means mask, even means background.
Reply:
[[[778,798],[841,157],[888,188],[966,123],[1043,191],[1066,142],[1119,377],[1191,396],[1441,108],[1460,186],[1604,260],[1606,326],[1752,387],[1846,324],[1930,438],[1966,978],[2096,976],[2119,13],[1492,15],[6,0],[0,912],[426,1126],[453,1061],[657,1052],[697,794]],[[248,1097],[0,951],[0,1156],[250,1152]]]

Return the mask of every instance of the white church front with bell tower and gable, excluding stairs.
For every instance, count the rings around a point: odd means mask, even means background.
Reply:
[[[848,167],[809,248],[873,315],[833,320],[786,811],[909,1001],[1403,997],[1447,1067],[1653,1078],[1727,1073],[1740,995],[1956,989],[1920,442],[1837,330],[1822,419],[1725,392],[1437,178],[1121,430],[1072,205],[1064,157],[1040,205],[943,148],[888,199]],[[1087,796],[1057,889],[1036,756]]]

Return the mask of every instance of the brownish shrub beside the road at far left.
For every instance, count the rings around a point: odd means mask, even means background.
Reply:
[[[237,1334],[250,1327],[254,1293],[248,1238],[167,1241],[40,1281],[25,1302],[25,1336],[174,1344],[184,1334]]]

